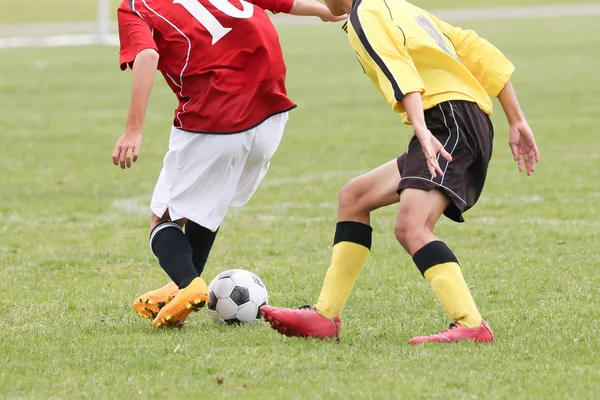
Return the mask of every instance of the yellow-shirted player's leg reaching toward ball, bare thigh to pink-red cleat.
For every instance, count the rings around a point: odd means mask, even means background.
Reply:
[[[398,202],[396,189],[403,160],[404,156],[359,176],[340,191],[332,260],[319,301],[315,307],[300,309],[264,306],[265,319],[278,332],[301,337],[339,336],[339,316],[370,252],[370,213]]]

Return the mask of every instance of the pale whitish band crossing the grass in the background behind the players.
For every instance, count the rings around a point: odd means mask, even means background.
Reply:
[[[432,10],[442,20],[448,22],[481,21],[481,20],[515,20],[535,18],[588,17],[600,15],[600,4],[561,4],[545,6],[518,7],[478,7],[455,10]],[[318,18],[278,15],[273,17],[276,26],[317,25],[322,22]],[[33,46],[80,46],[90,44],[118,45],[117,35],[100,37],[96,22],[58,22],[44,24],[9,24],[0,25],[0,49]],[[113,23],[112,31],[115,31]],[[27,37],[9,37],[22,35]],[[60,35],[59,33],[66,33]],[[37,37],[36,37],[37,36]]]

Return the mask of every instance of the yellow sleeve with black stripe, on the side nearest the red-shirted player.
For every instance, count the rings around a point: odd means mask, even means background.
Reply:
[[[425,85],[404,46],[402,32],[381,13],[363,7],[355,8],[349,21],[350,44],[365,72],[394,111],[403,113],[404,96],[424,92]]]

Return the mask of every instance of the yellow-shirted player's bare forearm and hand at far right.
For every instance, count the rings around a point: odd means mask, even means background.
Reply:
[[[535,163],[540,161],[540,153],[510,81],[500,91],[498,100],[508,121],[508,144],[519,171],[525,169],[527,175],[531,175],[535,171]]]

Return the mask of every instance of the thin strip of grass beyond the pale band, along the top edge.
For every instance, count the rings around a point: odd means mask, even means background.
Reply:
[[[598,0],[577,0],[576,3],[597,3]],[[121,3],[111,0],[112,9]],[[538,4],[562,4],[566,0],[415,0],[414,4],[426,8],[457,8],[486,6],[519,6]],[[0,0],[0,24],[27,22],[93,21],[96,19],[97,0],[37,0],[32,5],[23,0]],[[116,11],[113,13],[113,17]]]

